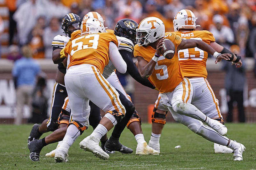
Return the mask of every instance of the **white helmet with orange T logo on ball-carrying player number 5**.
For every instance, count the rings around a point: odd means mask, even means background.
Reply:
[[[164,37],[165,27],[161,19],[148,17],[140,22],[136,31],[136,41],[142,46]]]

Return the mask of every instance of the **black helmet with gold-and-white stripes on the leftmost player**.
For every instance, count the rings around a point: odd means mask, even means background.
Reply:
[[[64,30],[64,33],[71,37],[71,33],[80,29],[81,23],[82,19],[78,15],[74,13],[68,13],[62,19],[61,28]]]

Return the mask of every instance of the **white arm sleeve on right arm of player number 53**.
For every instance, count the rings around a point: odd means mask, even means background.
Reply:
[[[111,60],[111,62],[113,63],[113,65],[115,66],[116,70],[120,73],[125,73],[127,70],[127,65],[124,62],[122,56],[120,55],[117,46],[114,42],[110,42],[109,43],[109,58]]]

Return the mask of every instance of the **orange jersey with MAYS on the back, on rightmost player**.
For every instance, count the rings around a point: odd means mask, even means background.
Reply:
[[[182,39],[204,41],[206,44],[214,42],[215,38],[209,31],[175,32]],[[184,77],[207,78],[206,60],[208,53],[199,48],[188,48],[178,51],[179,63]]]

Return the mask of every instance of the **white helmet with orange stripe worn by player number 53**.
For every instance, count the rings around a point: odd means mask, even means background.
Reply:
[[[81,35],[90,33],[106,33],[106,29],[100,20],[96,18],[87,18],[81,25]]]

